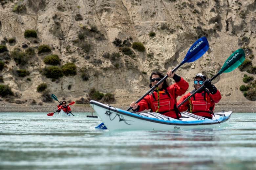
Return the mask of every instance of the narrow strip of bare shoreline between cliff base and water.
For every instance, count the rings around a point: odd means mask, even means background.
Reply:
[[[126,110],[128,104],[110,104],[111,106]],[[0,104],[1,112],[55,112],[57,110],[56,104],[53,103],[44,103],[41,105],[29,105],[29,104],[15,104],[15,103],[7,103],[2,102]],[[74,104],[71,106],[72,113],[74,112],[89,112],[93,113],[94,110],[90,106],[90,104]],[[214,112],[222,112],[222,111],[232,111],[233,113],[254,113],[256,112],[256,102],[252,101],[252,103],[244,103],[243,101],[239,102],[220,102],[215,105]]]

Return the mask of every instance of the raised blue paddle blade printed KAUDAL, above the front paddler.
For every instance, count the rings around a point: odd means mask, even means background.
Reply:
[[[206,37],[202,37],[198,39],[188,50],[185,58],[183,59],[183,63],[185,62],[193,62],[198,58],[203,56],[203,54],[209,49],[209,43]]]

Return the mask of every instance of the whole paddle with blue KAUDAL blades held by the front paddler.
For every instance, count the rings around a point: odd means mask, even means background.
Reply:
[[[190,63],[190,62],[196,61],[198,58],[203,56],[203,54],[208,50],[208,48],[209,48],[209,43],[208,43],[206,37],[202,37],[202,38],[196,40],[196,42],[194,42],[194,44],[189,48],[185,58],[182,60],[182,62],[178,66],[176,66],[172,70],[172,72],[176,71],[184,63]],[[145,96],[147,96],[152,90],[154,90],[158,85],[160,85],[160,83],[162,83],[167,77],[168,77],[168,75],[164,76],[156,85],[154,85],[151,89],[149,89],[149,91],[146,94],[144,94],[141,98],[139,98],[139,100],[137,100],[136,103],[138,103]],[[129,111],[131,109],[132,109],[132,107],[128,108],[127,111]],[[101,123],[100,125],[97,126],[97,128],[101,129],[100,127],[102,127],[102,125],[104,125],[104,124]],[[106,127],[106,126],[104,126],[104,127]]]

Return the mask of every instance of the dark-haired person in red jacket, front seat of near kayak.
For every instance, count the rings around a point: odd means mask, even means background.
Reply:
[[[140,100],[138,103],[132,102],[130,106],[135,112],[151,109],[152,112],[158,112],[162,115],[180,118],[181,114],[176,107],[177,97],[183,95],[188,89],[188,82],[171,70],[167,75],[174,79],[175,83],[168,85],[166,79],[158,85],[150,94]],[[156,85],[164,75],[160,72],[152,72],[150,75],[149,87]]]

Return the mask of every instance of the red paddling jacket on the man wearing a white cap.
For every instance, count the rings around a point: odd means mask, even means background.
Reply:
[[[177,105],[189,97],[194,91],[195,90],[182,96],[181,99],[177,102]],[[220,100],[221,93],[219,90],[217,90],[215,94],[211,94],[209,90],[204,89],[202,92],[196,93],[193,97],[191,97],[190,101],[192,111],[190,111],[189,100],[183,103],[178,109],[180,112],[188,110],[188,112],[191,112],[195,115],[212,118],[215,103],[218,103]]]

